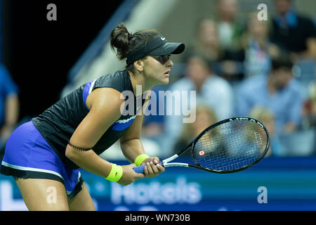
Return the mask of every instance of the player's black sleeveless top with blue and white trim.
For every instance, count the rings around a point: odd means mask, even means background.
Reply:
[[[99,77],[80,86],[45,110],[44,113],[32,119],[34,126],[37,127],[51,148],[53,148],[60,159],[72,169],[78,169],[79,167],[65,156],[67,143],[74,133],[74,130],[77,129],[80,122],[89,112],[86,106],[88,94],[94,89],[102,87],[110,87],[121,93],[123,92],[122,94],[125,96],[126,101],[131,102],[129,98],[133,98],[133,104],[127,105],[125,110],[128,111],[122,113],[119,120],[114,122],[111,127],[105,131],[105,134],[103,134],[96,145],[93,146],[93,151],[100,155],[127,131],[136,118],[139,106],[143,105],[145,101],[143,95],[136,99],[136,96],[133,94],[133,86],[129,73],[126,70],[119,70],[113,74]],[[126,95],[124,93],[131,93],[133,95]],[[138,109],[136,109],[136,106]],[[133,113],[131,113],[129,107],[133,107]],[[126,115],[126,112],[129,113]]]

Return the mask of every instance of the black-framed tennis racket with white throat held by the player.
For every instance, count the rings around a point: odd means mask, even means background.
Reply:
[[[259,162],[268,152],[268,129],[250,117],[233,117],[216,122],[202,131],[186,148],[163,160],[163,167],[192,167],[214,173],[232,173]],[[195,165],[171,162],[191,150]],[[144,173],[145,165],[134,167]]]

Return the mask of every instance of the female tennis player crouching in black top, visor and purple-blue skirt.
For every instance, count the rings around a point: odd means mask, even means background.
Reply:
[[[125,70],[80,86],[8,139],[1,174],[15,177],[29,210],[95,210],[79,167],[121,185],[164,172],[159,158],[145,154],[143,113],[137,110],[144,110],[148,100],[143,95],[150,96],[152,86],[168,84],[169,56],[182,53],[185,45],[167,42],[154,30],[131,34],[123,23],[112,30],[110,42],[118,58],[126,58]],[[140,96],[137,85],[142,86]],[[124,91],[133,93],[133,115],[121,112]],[[136,109],[139,99],[143,108]],[[131,164],[115,165],[98,156],[117,140]],[[144,164],[145,175],[133,171]]]

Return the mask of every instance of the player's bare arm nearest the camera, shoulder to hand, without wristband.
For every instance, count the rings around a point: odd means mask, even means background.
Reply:
[[[90,111],[72,134],[70,143],[80,148],[76,150],[67,145],[65,155],[76,165],[88,172],[107,177],[112,164],[100,158],[91,148],[96,145],[105,131],[121,116],[120,107],[124,103],[121,93],[114,89],[101,88],[94,90],[87,98],[86,104]],[[133,172],[136,165],[123,166],[123,175],[117,182],[122,185],[131,184],[143,174]]]

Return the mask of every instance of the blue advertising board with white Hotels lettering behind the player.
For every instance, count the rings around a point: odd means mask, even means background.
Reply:
[[[316,158],[265,158],[234,174],[169,167],[129,186],[81,174],[97,210],[316,210]],[[11,176],[0,175],[0,210],[27,210]]]

